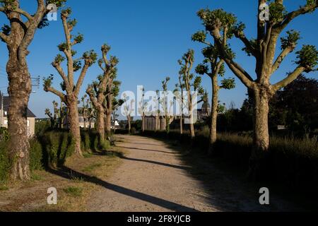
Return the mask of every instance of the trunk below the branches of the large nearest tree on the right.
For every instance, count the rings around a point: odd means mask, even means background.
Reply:
[[[270,95],[264,90],[254,90],[254,140],[249,159],[250,179],[261,177],[263,162],[269,149],[269,100]]]

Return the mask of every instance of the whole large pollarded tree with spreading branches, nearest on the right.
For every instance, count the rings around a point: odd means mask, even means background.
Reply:
[[[269,100],[273,95],[294,81],[301,73],[314,70],[317,65],[318,52],[312,45],[304,45],[296,54],[297,66],[288,76],[275,84],[270,83],[270,78],[281,66],[285,57],[295,50],[300,39],[299,32],[289,30],[286,37],[281,37],[281,52],[276,56],[278,38],[290,22],[298,16],[311,13],[317,8],[317,0],[307,0],[307,4],[300,6],[295,11],[288,13],[283,5],[283,0],[271,1],[269,4],[269,18],[263,16],[266,0],[258,1],[257,37],[249,40],[245,33],[245,25],[237,23],[237,18],[223,10],[210,11],[208,9],[198,12],[203,20],[206,30],[212,35],[214,44],[218,47],[221,59],[225,61],[235,76],[244,83],[252,93],[254,100],[254,148],[250,158],[249,176],[256,178],[260,172],[260,162],[269,149]],[[245,71],[233,58],[230,47],[223,45],[223,37],[226,33],[233,32],[235,37],[245,44],[244,50],[249,56],[256,59],[256,79]]]

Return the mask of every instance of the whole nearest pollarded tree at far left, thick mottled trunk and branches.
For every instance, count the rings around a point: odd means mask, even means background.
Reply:
[[[18,0],[0,0],[0,12],[8,18],[9,25],[4,25],[0,31],[0,40],[8,48],[8,133],[9,155],[11,164],[11,179],[30,179],[30,144],[27,133],[27,109],[32,90],[32,82],[26,57],[30,52],[28,47],[33,41],[37,28],[48,25],[44,19],[50,9],[48,4],[61,6],[66,0],[37,0],[37,10],[34,14],[20,8]]]

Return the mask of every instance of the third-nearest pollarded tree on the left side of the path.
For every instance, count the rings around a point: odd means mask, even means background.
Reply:
[[[100,68],[102,69],[102,75],[98,76],[98,82],[88,85],[86,93],[90,97],[90,101],[93,103],[98,114],[98,134],[100,145],[105,139],[105,114],[107,109],[104,103],[107,101],[107,97],[111,95],[109,85],[113,83],[116,77],[118,59],[116,57],[110,57],[107,59],[107,53],[110,52],[110,46],[107,44],[102,45],[102,59],[98,61]],[[104,64],[104,65],[103,65]]]

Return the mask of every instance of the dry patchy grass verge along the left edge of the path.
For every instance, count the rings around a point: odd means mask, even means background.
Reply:
[[[36,212],[87,211],[87,202],[90,200],[91,194],[98,191],[100,186],[87,181],[86,177],[78,176],[76,172],[106,181],[122,162],[120,155],[123,155],[122,151],[112,146],[107,152],[88,153],[87,156],[89,157],[68,157],[63,167],[54,167],[49,172],[43,169],[33,170],[31,174],[32,180],[28,183],[6,184],[0,182],[1,201],[8,203],[1,206],[1,210]],[[63,171],[64,167],[66,169],[69,168],[69,170]],[[57,174],[54,172],[57,172]],[[67,179],[60,176],[59,173],[61,172],[66,174]],[[57,205],[51,206],[43,203],[48,196],[46,189],[50,186],[57,188]],[[6,190],[11,187],[14,187],[14,189],[9,194]]]

